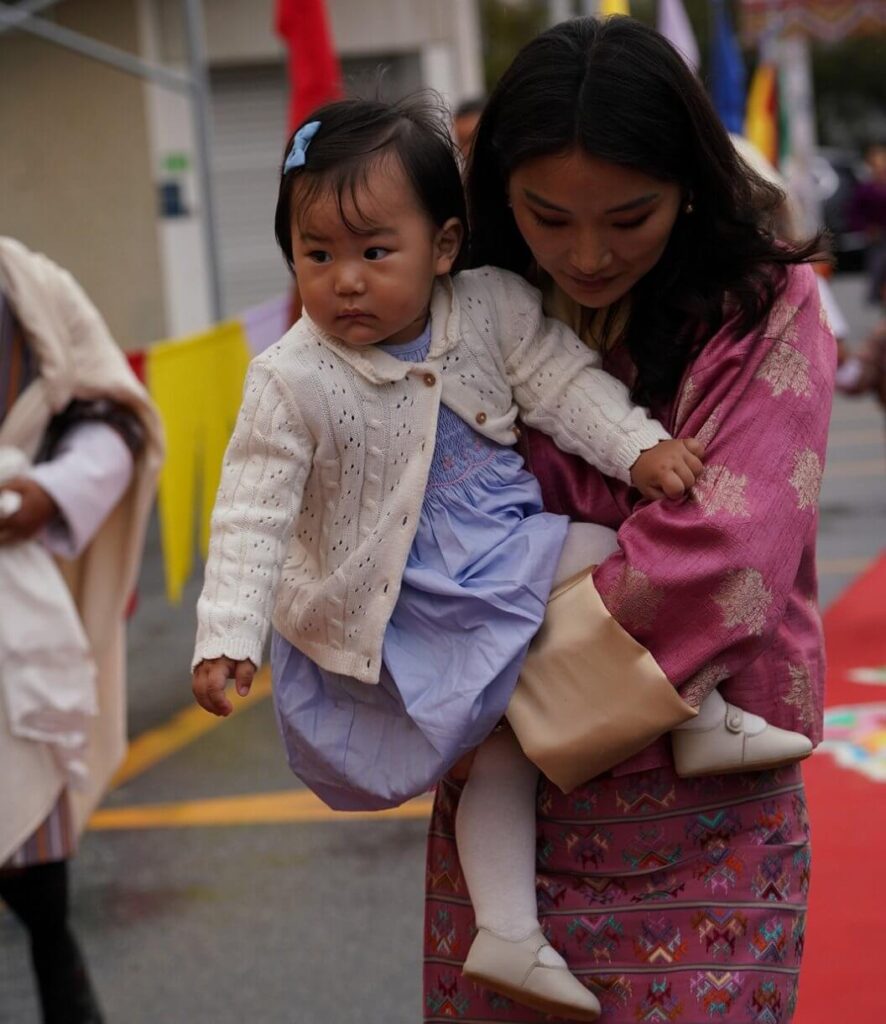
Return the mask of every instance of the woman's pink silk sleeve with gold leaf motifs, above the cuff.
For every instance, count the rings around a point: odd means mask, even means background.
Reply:
[[[814,538],[836,354],[811,279],[757,336],[705,350],[677,422],[708,445],[702,476],[680,503],[639,504],[596,570],[675,685],[734,675],[771,643]]]

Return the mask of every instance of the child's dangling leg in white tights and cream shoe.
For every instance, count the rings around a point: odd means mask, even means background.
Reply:
[[[599,1002],[539,926],[538,777],[510,729],[494,732],[471,763],[456,814],[459,859],[478,929],[464,973],[546,1013],[595,1021]]]

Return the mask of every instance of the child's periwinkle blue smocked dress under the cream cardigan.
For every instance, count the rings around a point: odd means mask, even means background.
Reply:
[[[428,327],[385,347],[420,362],[429,345]],[[273,635],[278,724],[305,785],[337,810],[395,807],[484,739],[541,625],[567,526],[543,511],[513,449],[440,406],[379,684],[327,672]]]

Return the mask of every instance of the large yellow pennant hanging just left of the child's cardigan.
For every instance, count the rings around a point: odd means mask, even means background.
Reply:
[[[158,509],[166,593],[176,603],[194,567],[198,524],[204,556],[209,545],[221,461],[249,359],[246,334],[237,322],[147,351],[147,388],[166,429]]]

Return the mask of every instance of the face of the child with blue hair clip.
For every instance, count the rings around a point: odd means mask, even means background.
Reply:
[[[304,308],[346,345],[417,338],[428,315],[434,279],[449,273],[462,227],[437,227],[419,206],[399,163],[379,161],[358,190],[357,208],[322,194],[293,217],[295,275]]]

